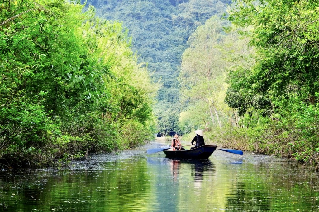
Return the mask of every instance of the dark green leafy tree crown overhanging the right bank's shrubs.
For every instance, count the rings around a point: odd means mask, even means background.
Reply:
[[[239,81],[246,78],[241,87],[230,91],[232,94],[251,93],[243,95],[242,107],[251,105],[271,113],[273,105],[295,92],[301,101],[317,102],[318,15],[313,12],[317,6],[316,1],[261,1],[257,5],[254,1],[238,1],[239,11],[233,12],[230,20],[254,26],[249,32],[250,44],[258,50],[254,67],[232,75],[238,75]]]

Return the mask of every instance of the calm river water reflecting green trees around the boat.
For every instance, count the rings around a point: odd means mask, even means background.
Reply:
[[[0,170],[0,211],[319,211],[319,177],[294,162],[216,150],[167,159],[146,146],[62,169]]]

